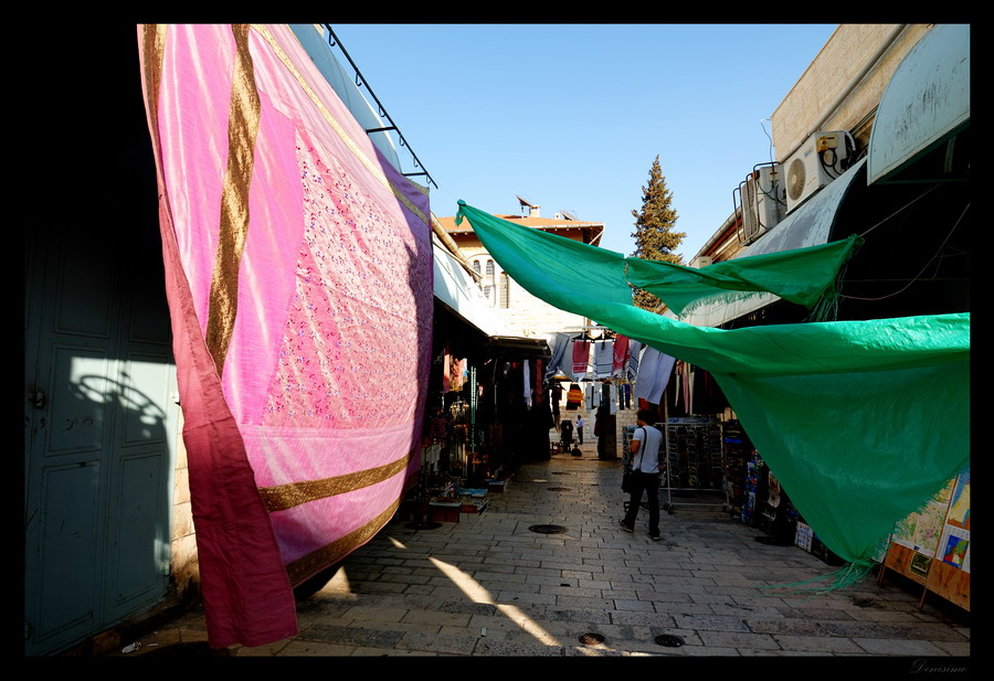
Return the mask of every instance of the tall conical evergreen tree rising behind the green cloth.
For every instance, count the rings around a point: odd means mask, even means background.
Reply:
[[[683,264],[683,257],[676,248],[687,236],[684,232],[675,232],[677,212],[673,209],[673,192],[666,188],[666,178],[659,167],[659,156],[649,169],[648,184],[642,188],[642,210],[632,211],[635,217],[635,257],[646,260],[666,260]],[[635,288],[633,299],[636,307],[644,310],[658,310],[663,301],[653,294]]]

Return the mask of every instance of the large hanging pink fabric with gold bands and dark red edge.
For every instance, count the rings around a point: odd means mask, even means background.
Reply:
[[[287,26],[138,41],[209,638],[257,646],[417,469],[429,200]]]

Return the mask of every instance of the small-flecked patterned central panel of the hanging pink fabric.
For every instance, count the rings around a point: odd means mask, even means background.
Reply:
[[[430,305],[430,273],[412,257],[408,226],[394,224],[336,159],[326,164],[305,145],[297,158],[304,243],[263,424],[410,422],[419,359],[431,342],[431,319],[413,317],[419,300]]]

